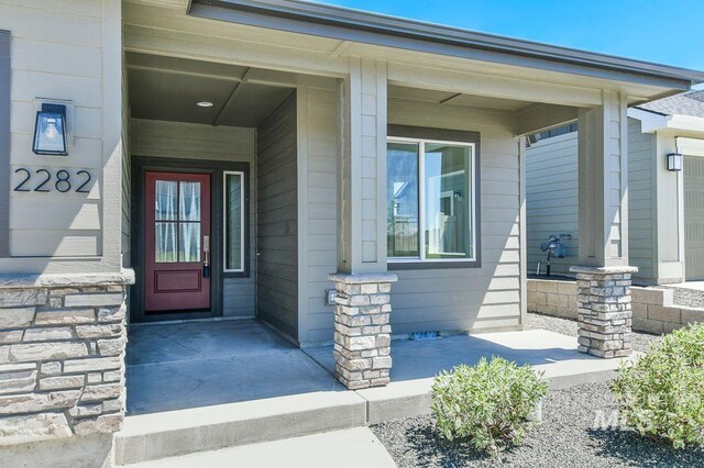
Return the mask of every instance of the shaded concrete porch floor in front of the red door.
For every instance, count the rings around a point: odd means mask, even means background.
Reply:
[[[127,363],[128,415],[344,389],[254,320],[132,325]]]

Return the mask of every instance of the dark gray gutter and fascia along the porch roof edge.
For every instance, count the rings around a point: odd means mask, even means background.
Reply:
[[[193,16],[468,59],[686,90],[704,73],[293,0],[193,0]]]

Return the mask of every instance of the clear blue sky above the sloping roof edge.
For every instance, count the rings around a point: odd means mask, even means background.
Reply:
[[[316,0],[704,70],[704,0]]]

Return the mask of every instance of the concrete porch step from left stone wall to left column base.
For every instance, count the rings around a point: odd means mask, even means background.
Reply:
[[[117,466],[366,425],[366,401],[331,391],[125,419]]]

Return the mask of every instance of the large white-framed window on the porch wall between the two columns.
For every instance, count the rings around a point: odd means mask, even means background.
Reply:
[[[389,137],[389,261],[476,259],[474,143]]]

